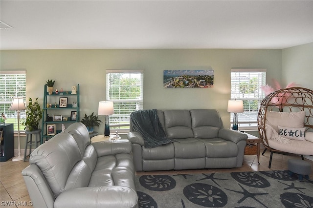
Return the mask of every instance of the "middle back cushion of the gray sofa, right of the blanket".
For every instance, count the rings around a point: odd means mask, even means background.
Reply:
[[[164,123],[168,138],[194,137],[189,110],[164,110]]]

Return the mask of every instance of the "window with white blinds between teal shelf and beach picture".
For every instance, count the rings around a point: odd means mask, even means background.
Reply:
[[[143,70],[107,70],[106,100],[113,101],[111,130],[129,131],[130,114],[143,109]]]

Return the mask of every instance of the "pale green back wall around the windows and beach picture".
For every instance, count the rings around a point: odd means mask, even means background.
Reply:
[[[97,113],[98,102],[105,100],[106,69],[144,69],[145,109],[217,109],[225,127],[230,126],[226,108],[231,68],[266,68],[268,81],[281,81],[282,74],[281,49],[2,50],[0,61],[1,70],[26,70],[27,98],[39,97],[40,103],[47,79],[55,79],[55,88],[64,90],[79,83],[81,116]],[[163,70],[209,67],[214,88],[163,88]],[[17,144],[15,138],[15,149]]]

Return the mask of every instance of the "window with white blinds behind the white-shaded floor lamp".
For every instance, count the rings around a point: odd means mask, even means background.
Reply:
[[[25,71],[1,71],[0,72],[0,114],[5,115],[5,123],[13,123],[14,130],[18,130],[16,110],[8,110],[13,97],[26,97],[26,72]],[[25,100],[24,100],[25,102]],[[26,118],[25,110],[20,112],[20,122]],[[20,131],[25,126],[20,124]]]

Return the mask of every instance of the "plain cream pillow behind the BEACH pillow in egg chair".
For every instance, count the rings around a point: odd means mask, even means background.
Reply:
[[[273,127],[278,132],[278,125],[293,127],[293,128],[302,128],[304,125],[305,112],[275,112],[267,111],[266,114],[266,124]]]

